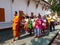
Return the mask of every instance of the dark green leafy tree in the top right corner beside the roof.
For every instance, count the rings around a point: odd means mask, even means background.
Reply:
[[[49,7],[52,12],[57,12],[58,15],[60,15],[60,0],[48,0],[48,2],[51,4]]]

